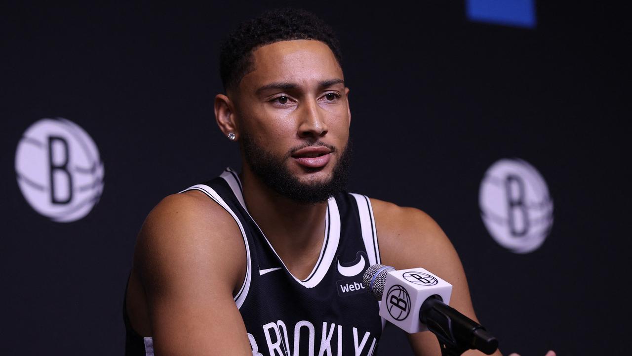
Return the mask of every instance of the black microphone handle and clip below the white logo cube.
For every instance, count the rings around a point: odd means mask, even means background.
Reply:
[[[423,302],[419,320],[437,336],[442,356],[460,356],[470,348],[491,355],[498,348],[498,340],[484,327],[442,302],[438,295]]]

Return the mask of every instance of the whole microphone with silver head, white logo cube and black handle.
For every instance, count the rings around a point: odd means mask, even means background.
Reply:
[[[362,284],[381,301],[381,317],[406,333],[432,331],[444,355],[461,355],[470,348],[491,355],[498,348],[498,340],[484,327],[447,305],[452,284],[428,270],[375,264]]]

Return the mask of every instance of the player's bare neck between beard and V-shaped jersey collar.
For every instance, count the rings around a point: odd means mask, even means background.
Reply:
[[[241,184],[248,212],[296,277],[307,277],[325,234],[327,202],[297,203],[270,189],[246,165]]]

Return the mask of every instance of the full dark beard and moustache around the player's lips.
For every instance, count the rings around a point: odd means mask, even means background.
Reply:
[[[240,141],[246,162],[252,172],[270,189],[297,203],[322,203],[346,188],[351,163],[350,139],[339,155],[339,160],[336,162],[331,178],[322,182],[299,181],[296,175],[289,171],[286,162],[291,158],[293,152],[307,146],[325,146],[335,151],[334,147],[317,141],[313,144],[306,144],[305,146],[291,149],[286,155],[279,157],[259,146],[245,132],[241,135]],[[312,171],[318,172],[319,169],[315,168]]]

